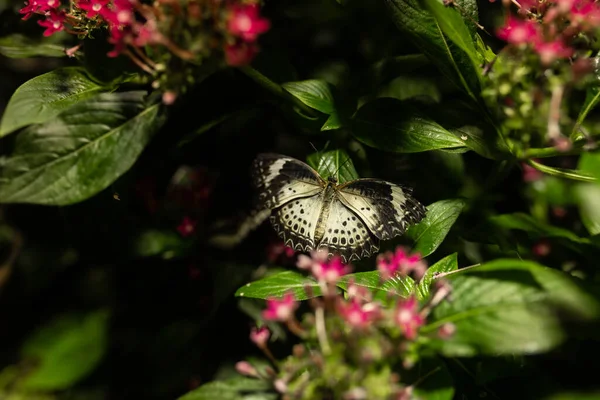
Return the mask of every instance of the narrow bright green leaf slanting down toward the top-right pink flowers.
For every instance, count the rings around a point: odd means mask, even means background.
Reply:
[[[455,8],[444,6],[438,0],[425,0],[425,3],[444,34],[469,56],[475,71],[478,71],[481,63],[479,55],[475,50],[471,32],[460,13]]]

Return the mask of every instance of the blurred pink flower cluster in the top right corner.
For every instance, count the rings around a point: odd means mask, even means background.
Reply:
[[[508,15],[497,35],[514,46],[531,46],[542,64],[573,56],[572,40],[600,27],[594,0],[522,0],[518,16]]]

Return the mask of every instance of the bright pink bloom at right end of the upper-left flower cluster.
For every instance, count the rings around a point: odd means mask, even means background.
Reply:
[[[227,30],[233,37],[225,45],[225,60],[234,67],[248,64],[258,53],[258,36],[268,31],[271,23],[260,16],[257,4],[236,4],[228,12]]]

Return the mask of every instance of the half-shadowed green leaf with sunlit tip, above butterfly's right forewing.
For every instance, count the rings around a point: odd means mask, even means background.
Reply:
[[[396,99],[377,99],[353,118],[352,134],[376,149],[397,153],[464,147],[464,142],[437,122]]]

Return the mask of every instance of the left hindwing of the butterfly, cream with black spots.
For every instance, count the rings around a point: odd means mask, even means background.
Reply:
[[[273,210],[271,223],[287,246],[299,251],[315,248],[315,230],[322,204],[322,194],[317,194],[291,200]]]

